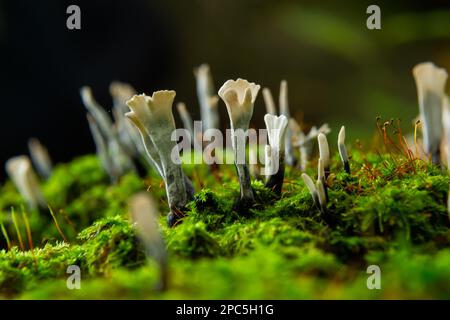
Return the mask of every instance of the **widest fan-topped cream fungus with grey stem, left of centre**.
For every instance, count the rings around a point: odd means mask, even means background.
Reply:
[[[151,97],[144,94],[135,95],[127,101],[130,112],[126,116],[141,133],[142,141],[149,158],[166,185],[170,212],[168,224],[174,225],[179,212],[193,197],[193,187],[184,175],[172,132],[175,131],[175,121],[172,114],[172,104],[175,91],[156,91]]]

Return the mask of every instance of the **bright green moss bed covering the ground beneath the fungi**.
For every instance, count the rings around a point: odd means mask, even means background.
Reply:
[[[351,175],[337,154],[332,159],[326,216],[297,169],[287,168],[281,197],[254,180],[258,204],[243,215],[234,211],[233,166],[211,174],[206,165],[186,165],[197,193],[174,228],[166,226],[156,173],[111,185],[95,156],[58,165],[42,186],[57,223],[50,210],[24,209],[8,181],[0,188],[0,297],[449,299],[448,174],[401,155],[351,155]],[[128,200],[142,190],[159,200],[162,213],[170,276],[164,292],[154,290],[158,268],[129,220]],[[66,286],[73,264],[81,268],[80,290]],[[373,264],[381,290],[366,285]]]

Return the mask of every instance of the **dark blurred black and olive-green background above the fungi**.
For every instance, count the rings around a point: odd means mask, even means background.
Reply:
[[[66,8],[81,7],[81,30]],[[366,9],[381,7],[381,30]],[[449,1],[0,0],[0,161],[39,138],[55,162],[94,151],[79,98],[90,85],[108,107],[112,80],[151,94],[175,89],[199,118],[193,68],[207,62],[216,89],[243,77],[272,89],[289,81],[291,113],[306,123],[346,124],[367,139],[375,117],[418,113],[411,68],[450,69]],[[226,111],[220,104],[222,128]],[[258,97],[254,125],[265,111]],[[4,172],[1,172],[4,176]]]

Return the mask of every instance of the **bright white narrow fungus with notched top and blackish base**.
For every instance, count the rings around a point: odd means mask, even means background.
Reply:
[[[284,115],[276,116],[266,114],[266,123],[269,144],[266,145],[266,187],[276,194],[281,194],[284,180],[284,144],[288,120]]]

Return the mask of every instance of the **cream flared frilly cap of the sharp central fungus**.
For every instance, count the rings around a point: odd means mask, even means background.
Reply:
[[[219,96],[227,107],[231,129],[248,129],[259,88],[259,85],[239,78],[226,81],[219,89]]]

